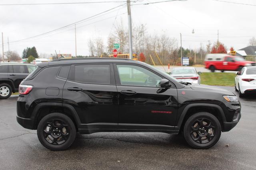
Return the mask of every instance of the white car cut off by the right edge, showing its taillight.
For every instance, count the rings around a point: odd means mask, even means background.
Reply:
[[[247,93],[256,92],[256,66],[247,66],[236,73],[235,89],[239,92],[239,97]]]

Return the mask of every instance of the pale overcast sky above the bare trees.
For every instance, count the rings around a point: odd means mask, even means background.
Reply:
[[[0,0],[0,4],[21,3],[58,3],[58,2],[93,2],[105,0]],[[110,1],[110,0],[106,0]],[[119,0],[123,1],[123,0]],[[162,0],[139,0],[133,4],[156,2]],[[255,0],[226,0],[256,5]],[[124,2],[101,4],[65,4],[65,5],[31,5],[0,6],[0,32],[4,33],[4,43],[39,35],[59,27],[88,18],[100,12],[114,8]],[[127,8],[88,20],[77,26],[77,55],[89,55],[88,39],[103,38],[106,43],[108,35],[114,31],[113,24],[123,20],[127,27]],[[229,49],[240,49],[248,45],[251,37],[256,36],[256,6],[217,2],[214,0],[187,0],[164,2],[149,5],[134,5],[132,10],[133,24],[146,24],[148,33],[166,32],[175,37],[180,45],[195,49],[206,47],[208,40],[214,43],[219,40]],[[123,14],[125,13],[125,14]],[[117,17],[116,17],[117,15]],[[116,19],[115,19],[116,17]],[[192,29],[195,33],[192,34]],[[2,44],[2,43],[0,43]],[[74,26],[53,32],[34,39],[10,43],[10,50],[22,55],[26,47],[35,46],[41,53],[71,53],[75,55]],[[4,45],[4,51],[8,46]],[[2,54],[2,47],[1,47]]]

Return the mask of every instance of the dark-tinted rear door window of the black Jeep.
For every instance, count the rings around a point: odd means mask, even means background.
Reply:
[[[109,64],[74,65],[70,80],[92,84],[110,84]]]

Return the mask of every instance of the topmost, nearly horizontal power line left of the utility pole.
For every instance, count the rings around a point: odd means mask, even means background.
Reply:
[[[20,5],[64,5],[64,4],[98,4],[98,3],[118,3],[126,1],[98,1],[98,2],[61,2],[61,3],[37,3],[37,4],[0,4],[0,6],[20,6]],[[136,2],[136,1],[131,1]]]

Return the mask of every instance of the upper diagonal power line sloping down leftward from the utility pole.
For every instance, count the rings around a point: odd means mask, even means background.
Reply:
[[[16,41],[11,41],[11,42],[9,42],[9,43],[14,43],[14,42],[23,41],[23,40],[26,40],[26,39],[31,39],[31,38],[39,37],[39,36],[42,36],[42,35],[46,35],[46,34],[48,34],[48,33],[52,33],[52,32],[54,32],[54,31],[58,31],[58,30],[60,30],[60,29],[64,29],[64,28],[66,28],[66,27],[70,27],[70,26],[72,26],[72,25],[74,25],[74,24],[76,24],[76,23],[81,23],[82,21],[86,21],[86,20],[88,20],[88,19],[90,19],[90,18],[93,18],[93,17],[95,17],[95,16],[98,16],[98,15],[100,15],[100,14],[103,14],[103,13],[105,13],[105,12],[108,12],[108,11],[110,11],[110,10],[113,10],[113,9],[118,8],[118,7],[120,7],[120,6],[123,6],[123,5],[124,5],[124,4],[119,5],[119,6],[116,6],[116,7],[114,7],[114,8],[109,9],[109,10],[106,10],[106,11],[104,11],[104,12],[100,12],[100,13],[94,15],[94,16],[90,16],[90,17],[85,18],[85,19],[83,19],[83,20],[76,21],[76,22],[74,22],[74,23],[71,23],[71,24],[68,24],[68,25],[66,25],[66,26],[63,26],[63,27],[54,29],[54,30],[52,30],[52,31],[48,31],[48,32],[41,33],[41,34],[39,34],[39,35],[34,35],[34,36],[32,36],[32,37],[28,37],[28,38],[24,38],[24,39],[19,39],[19,40],[16,40]]]

